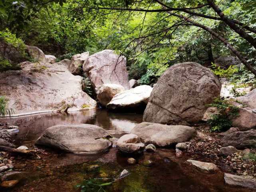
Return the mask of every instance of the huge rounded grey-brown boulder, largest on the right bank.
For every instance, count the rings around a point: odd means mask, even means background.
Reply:
[[[171,66],[157,81],[143,121],[188,125],[200,121],[221,84],[210,69],[186,62]]]

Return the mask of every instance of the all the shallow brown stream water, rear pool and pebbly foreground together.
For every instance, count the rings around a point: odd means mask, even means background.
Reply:
[[[16,146],[34,147],[45,129],[64,123],[87,123],[108,130],[114,137],[128,133],[142,122],[141,114],[111,113],[103,109],[66,114],[42,114],[12,119],[0,119],[18,125],[14,137]],[[40,158],[15,157],[14,170],[22,171],[15,188],[1,192],[250,192],[251,190],[224,184],[223,172],[202,173],[185,163],[189,154],[175,155],[174,149],[157,149],[136,156],[137,164],[128,165],[127,158],[111,148],[104,154],[76,155],[50,148],[38,148]],[[151,160],[153,164],[146,164]],[[113,181],[124,169],[131,174],[102,189],[87,187],[92,183]],[[97,178],[97,180],[94,180]],[[17,179],[17,178],[14,178]],[[91,185],[90,185],[91,186]]]

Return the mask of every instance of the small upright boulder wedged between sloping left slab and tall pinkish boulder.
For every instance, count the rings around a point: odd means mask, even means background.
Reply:
[[[69,71],[73,75],[80,75],[82,72],[83,63],[87,60],[88,57],[89,51],[73,55],[70,65],[68,66]]]

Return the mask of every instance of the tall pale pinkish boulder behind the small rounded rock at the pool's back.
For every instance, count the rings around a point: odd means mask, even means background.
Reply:
[[[103,50],[88,57],[83,63],[83,71],[98,89],[105,83],[122,85],[130,89],[126,58],[113,50]]]

